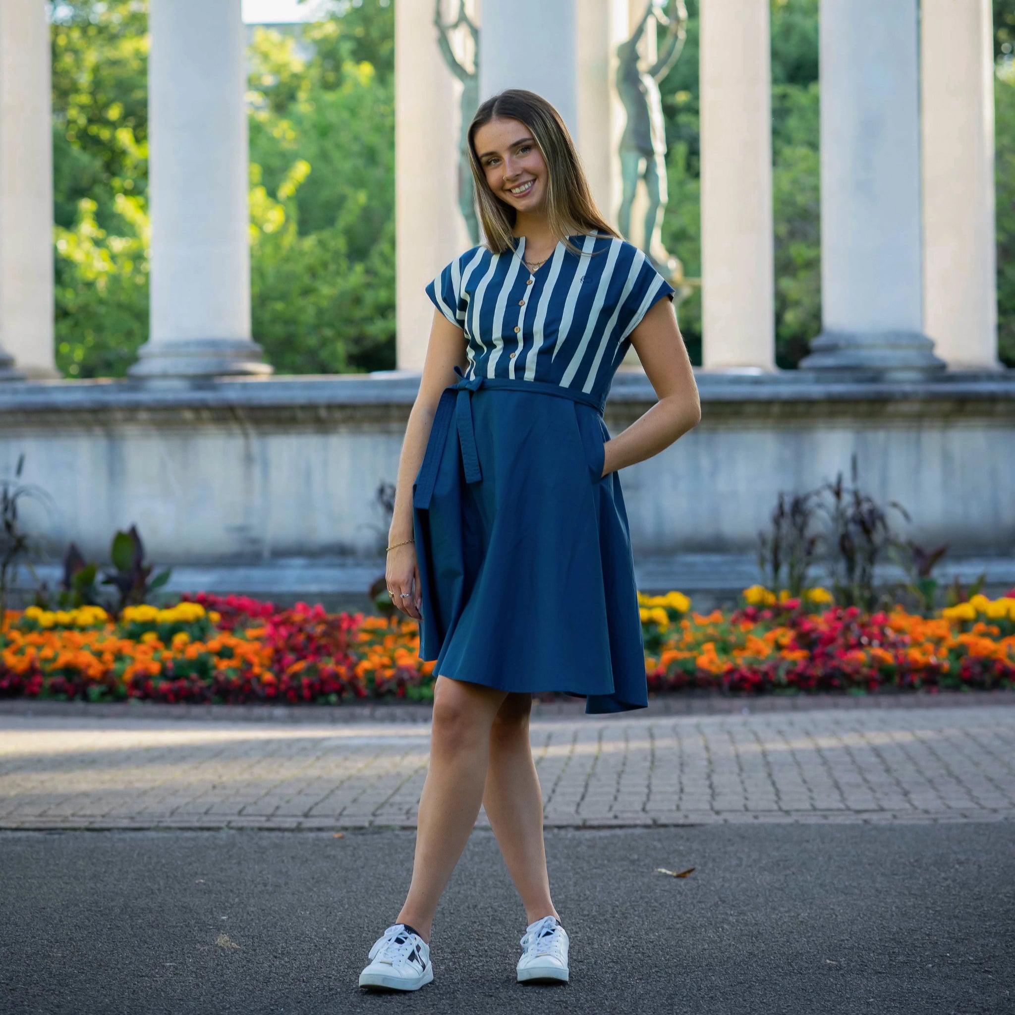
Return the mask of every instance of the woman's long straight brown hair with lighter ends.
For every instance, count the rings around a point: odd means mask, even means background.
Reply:
[[[507,88],[487,98],[469,124],[469,163],[476,182],[479,218],[493,254],[514,249],[516,210],[498,198],[486,182],[476,155],[476,131],[493,119],[518,120],[528,127],[546,163],[546,220],[550,231],[574,254],[582,252],[567,239],[600,229],[621,239],[596,207],[574,142],[560,114],[542,95],[525,88]]]

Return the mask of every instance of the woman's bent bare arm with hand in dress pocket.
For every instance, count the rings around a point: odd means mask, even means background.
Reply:
[[[604,476],[658,455],[701,419],[694,371],[673,302],[660,299],[653,303],[631,332],[630,340],[659,401],[606,442]]]

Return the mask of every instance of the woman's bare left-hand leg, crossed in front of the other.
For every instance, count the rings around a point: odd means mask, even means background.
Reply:
[[[505,696],[445,676],[433,685],[430,764],[419,798],[412,883],[396,921],[414,927],[427,944],[437,901],[479,814],[490,727]]]

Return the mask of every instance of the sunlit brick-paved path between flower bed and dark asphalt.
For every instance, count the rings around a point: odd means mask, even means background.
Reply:
[[[0,828],[412,826],[428,738],[0,715]],[[539,720],[532,743],[547,825],[1015,818],[1005,705]]]

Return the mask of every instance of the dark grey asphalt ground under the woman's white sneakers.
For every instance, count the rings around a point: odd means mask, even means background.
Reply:
[[[515,982],[524,912],[477,831],[437,913],[433,984],[366,994],[413,838],[0,834],[0,1011],[1015,1012],[1010,822],[550,830],[566,987]]]

